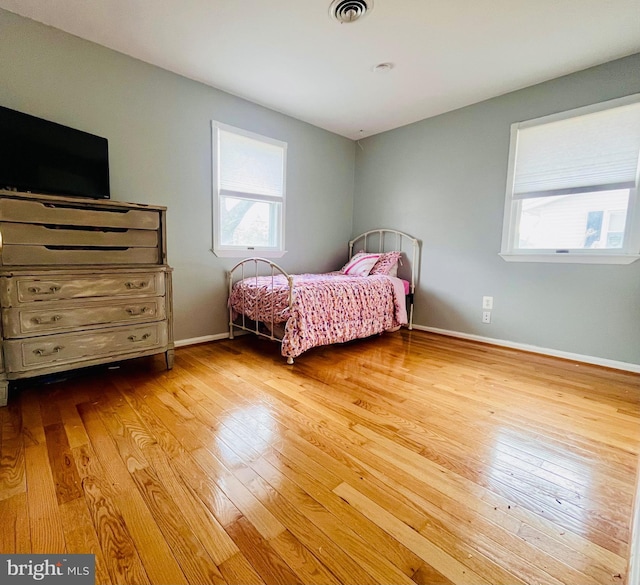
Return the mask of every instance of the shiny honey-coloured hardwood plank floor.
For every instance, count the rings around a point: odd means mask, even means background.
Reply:
[[[22,384],[0,552],[97,583],[623,584],[640,375],[406,331]]]

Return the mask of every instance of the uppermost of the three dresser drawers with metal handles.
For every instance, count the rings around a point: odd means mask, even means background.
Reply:
[[[14,276],[0,279],[3,307],[21,303],[110,296],[163,296],[165,272],[120,272],[86,276]]]

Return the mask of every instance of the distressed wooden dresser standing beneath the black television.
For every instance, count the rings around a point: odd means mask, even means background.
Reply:
[[[164,353],[166,208],[0,190],[0,406],[9,381]]]

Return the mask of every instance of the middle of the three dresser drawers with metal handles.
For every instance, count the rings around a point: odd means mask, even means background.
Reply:
[[[162,321],[166,317],[164,297],[99,302],[59,301],[2,310],[5,338],[78,329]]]

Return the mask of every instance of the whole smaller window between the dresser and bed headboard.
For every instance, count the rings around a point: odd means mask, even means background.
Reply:
[[[211,123],[217,256],[284,254],[286,142]]]

